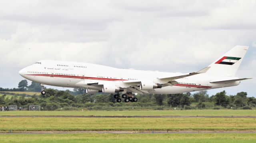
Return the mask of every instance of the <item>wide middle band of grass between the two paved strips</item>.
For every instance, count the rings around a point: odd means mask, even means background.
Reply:
[[[1,131],[256,130],[256,118],[0,117]]]

